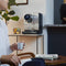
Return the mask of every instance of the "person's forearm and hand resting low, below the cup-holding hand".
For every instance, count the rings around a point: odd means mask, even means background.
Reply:
[[[1,63],[12,63],[14,64],[15,66],[19,65],[19,63],[21,64],[20,62],[20,58],[16,56],[16,55],[2,55],[1,56]]]

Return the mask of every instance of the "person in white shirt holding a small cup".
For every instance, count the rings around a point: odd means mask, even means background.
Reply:
[[[0,0],[0,10],[8,9],[9,0]],[[0,15],[1,16],[1,15]],[[11,50],[18,48],[16,44],[11,45]],[[19,65],[20,58],[15,55],[9,55],[11,53],[9,36],[8,36],[8,28],[6,23],[0,19],[0,63],[3,62],[12,62],[15,66]],[[6,66],[6,65],[1,65]]]

